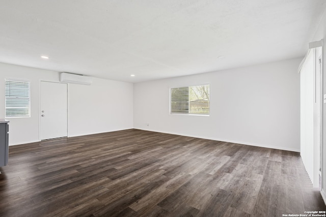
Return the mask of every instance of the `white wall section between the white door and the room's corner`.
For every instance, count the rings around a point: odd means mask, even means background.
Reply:
[[[133,84],[93,78],[90,86],[69,84],[68,135],[133,128]]]

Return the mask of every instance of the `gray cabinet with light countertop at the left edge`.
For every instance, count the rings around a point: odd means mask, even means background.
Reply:
[[[8,164],[9,125],[8,120],[0,119],[0,167]]]

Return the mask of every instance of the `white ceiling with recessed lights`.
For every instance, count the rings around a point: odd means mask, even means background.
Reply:
[[[324,0],[1,0],[0,62],[127,82],[267,63],[304,56],[325,7]]]

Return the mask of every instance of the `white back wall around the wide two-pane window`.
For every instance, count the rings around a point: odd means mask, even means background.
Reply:
[[[136,83],[134,128],[300,151],[301,60]],[[169,114],[169,88],[207,82],[210,116]]]

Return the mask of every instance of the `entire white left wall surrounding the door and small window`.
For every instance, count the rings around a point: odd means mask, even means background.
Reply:
[[[10,145],[39,141],[39,84],[59,82],[58,72],[0,63],[0,118],[5,117],[5,79],[31,82],[31,117],[10,120]],[[133,84],[93,79],[93,84],[68,85],[68,136],[133,128]]]

